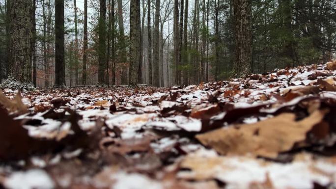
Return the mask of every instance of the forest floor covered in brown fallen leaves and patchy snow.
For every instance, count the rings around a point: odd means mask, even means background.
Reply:
[[[336,187],[336,61],[187,87],[0,94],[0,188]]]

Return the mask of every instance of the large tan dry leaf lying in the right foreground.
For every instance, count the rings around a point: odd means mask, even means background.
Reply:
[[[254,124],[218,129],[196,135],[204,145],[220,154],[276,158],[278,153],[291,150],[296,142],[306,139],[306,134],[319,124],[327,110],[317,110],[309,117],[295,121],[295,114],[283,113]]]

